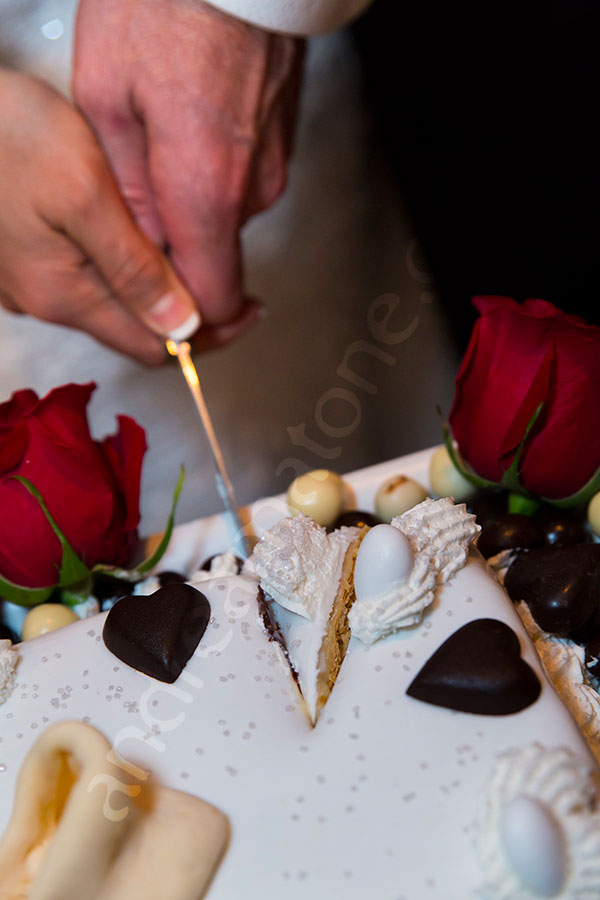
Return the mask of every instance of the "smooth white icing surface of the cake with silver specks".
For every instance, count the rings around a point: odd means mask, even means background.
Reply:
[[[348,476],[357,506],[372,508],[377,487],[395,473],[426,482],[427,460],[418,454]],[[263,501],[254,520],[268,528],[284,514],[279,501]],[[201,557],[224,549],[222,527],[215,519],[179,529],[165,567],[194,571]],[[501,761],[527,754],[536,742],[542,756],[566,753],[586,783],[595,770],[517,613],[477,554],[440,587],[419,625],[372,646],[352,638],[314,729],[277,645],[258,623],[256,583],[232,576],[199,588],[211,621],[173,685],[134,671],[106,649],[104,615],[18,648],[17,686],[0,707],[0,831],[21,761],[40,731],[84,720],[137,767],[140,779],[150,769],[167,787],[197,794],[228,816],[231,843],[209,900],[468,900],[495,896],[482,846],[506,855],[510,877],[499,875],[502,885],[521,872],[522,861],[511,863],[510,848],[502,849],[506,840],[495,834],[481,840],[482,822],[497,828],[502,819],[481,815],[482,798],[495,809],[502,803],[489,793]],[[489,716],[408,697],[433,652],[479,618],[501,620],[518,635],[523,659],[542,684],[539,699],[521,712]],[[594,815],[592,800],[586,815]],[[572,823],[561,832],[567,874],[553,895],[561,900],[578,896],[571,889],[581,884],[571,846],[577,833]],[[552,846],[536,848],[536,865]],[[542,896],[523,888],[522,878],[520,900]],[[591,888],[588,879],[586,889],[592,893],[585,896],[600,897],[599,878],[592,877]]]

